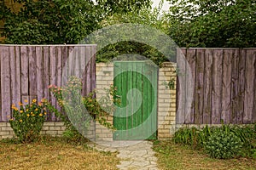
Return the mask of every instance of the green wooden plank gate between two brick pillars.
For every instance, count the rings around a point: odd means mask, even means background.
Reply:
[[[151,61],[114,61],[113,139],[156,139],[158,67]]]

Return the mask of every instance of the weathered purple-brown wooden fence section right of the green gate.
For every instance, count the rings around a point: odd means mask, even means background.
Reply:
[[[177,124],[256,122],[256,48],[182,48],[177,68]]]

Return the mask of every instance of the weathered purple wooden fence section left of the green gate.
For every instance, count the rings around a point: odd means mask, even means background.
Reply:
[[[84,70],[82,93],[89,94],[96,88],[95,54],[96,45],[0,45],[0,122],[9,120],[12,104],[25,99],[46,98],[57,106],[49,85],[62,85],[65,65],[68,75]],[[49,115],[48,121],[56,117]]]

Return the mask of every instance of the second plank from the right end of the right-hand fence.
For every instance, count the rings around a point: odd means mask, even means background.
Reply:
[[[230,123],[237,123],[238,87],[239,87],[239,50],[232,53],[232,77],[231,77],[231,111]]]

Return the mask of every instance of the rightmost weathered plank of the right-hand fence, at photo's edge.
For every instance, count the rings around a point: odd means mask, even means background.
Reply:
[[[253,122],[253,108],[254,108],[254,79],[256,54],[253,50],[247,50],[246,67],[245,67],[245,96],[244,96],[244,115],[243,123]]]

